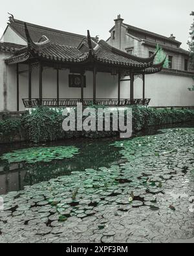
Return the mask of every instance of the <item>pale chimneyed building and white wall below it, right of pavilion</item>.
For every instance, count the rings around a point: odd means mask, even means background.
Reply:
[[[193,70],[189,67],[189,52],[182,49],[175,36],[162,36],[124,23],[119,15],[109,31],[107,43],[138,57],[149,57],[160,45],[169,59],[169,68],[146,75],[146,97],[155,107],[193,106],[194,95],[188,88],[193,84]],[[125,86],[125,85],[124,85]],[[140,95],[141,81],[135,81],[135,97]]]

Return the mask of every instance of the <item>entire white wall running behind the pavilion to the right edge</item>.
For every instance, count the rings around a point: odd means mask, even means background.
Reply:
[[[3,110],[3,55],[0,58],[0,111]],[[5,55],[4,55],[5,57]],[[27,70],[25,65],[19,65],[19,70]],[[93,97],[92,72],[86,72],[87,86],[84,97]],[[129,79],[129,77],[125,77]],[[188,88],[193,84],[191,77],[181,77],[157,73],[146,75],[146,97],[151,98],[150,106],[193,106],[194,92]],[[142,98],[142,79],[135,80],[135,98]],[[19,75],[19,110],[24,110],[23,98],[28,97],[28,72]],[[32,70],[32,97],[39,97],[39,70]],[[69,88],[69,70],[59,71],[59,97],[80,98],[80,88]],[[97,73],[96,98],[117,98],[118,77],[108,73]],[[43,98],[56,98],[56,70],[52,68],[43,71]],[[130,81],[121,82],[121,98],[130,98]],[[16,111],[16,65],[7,66],[7,107]]]

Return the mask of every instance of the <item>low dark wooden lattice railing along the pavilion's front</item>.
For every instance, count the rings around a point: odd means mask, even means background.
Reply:
[[[25,108],[43,107],[76,107],[77,103],[81,103],[81,99],[23,99]],[[95,105],[107,107],[142,105],[148,106],[150,99],[96,99]],[[93,99],[83,99],[83,105],[94,105]]]

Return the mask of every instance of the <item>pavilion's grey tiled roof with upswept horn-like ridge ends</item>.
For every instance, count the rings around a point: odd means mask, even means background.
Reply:
[[[100,62],[109,66],[114,65],[118,68],[145,69],[153,65],[153,61],[156,56],[156,53],[149,58],[140,58],[134,55],[129,55],[124,51],[111,47],[111,45],[107,44],[107,42],[103,40],[98,42],[98,44],[96,44],[96,46],[93,48],[89,31],[87,37],[88,44],[85,45],[86,49],[88,47],[86,52],[81,52],[78,47],[53,44],[50,42],[50,40],[48,40],[48,38],[43,38],[45,42],[34,43],[28,31],[27,24],[25,24],[25,33],[27,36],[28,46],[16,51],[14,56],[6,60],[6,63],[16,63],[17,58],[18,62],[24,62],[29,56],[45,60],[54,60],[56,62],[81,63],[92,61]]]

